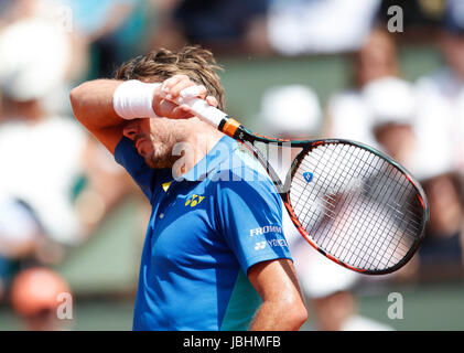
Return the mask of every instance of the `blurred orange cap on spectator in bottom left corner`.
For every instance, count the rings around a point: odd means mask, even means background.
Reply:
[[[60,306],[60,293],[71,289],[66,281],[47,268],[30,268],[20,272],[13,281],[11,302],[13,309],[23,317],[32,317],[44,310]]]

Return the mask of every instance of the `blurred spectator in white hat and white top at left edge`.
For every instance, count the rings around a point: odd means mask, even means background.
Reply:
[[[21,20],[0,33],[0,87],[3,93],[2,115],[7,120],[0,127],[0,160],[2,165],[9,165],[8,172],[3,173],[0,197],[3,205],[17,210],[12,211],[13,214],[30,213],[15,206],[13,200],[32,205],[35,214],[44,213],[36,216],[43,220],[50,235],[56,237],[68,234],[76,225],[69,207],[53,191],[64,192],[66,184],[61,178],[65,170],[75,175],[73,156],[84,147],[85,136],[66,119],[48,119],[41,98],[63,79],[69,58],[68,47],[66,38],[43,20]],[[67,143],[62,143],[64,146],[57,150],[58,145],[54,143],[60,139]],[[72,150],[65,150],[67,146],[72,146]],[[64,153],[66,162],[57,163],[50,158],[56,157],[57,152]],[[31,170],[34,170],[33,178]],[[53,170],[55,173],[51,173]],[[56,227],[56,220],[64,228]],[[4,222],[11,221],[7,217]]]

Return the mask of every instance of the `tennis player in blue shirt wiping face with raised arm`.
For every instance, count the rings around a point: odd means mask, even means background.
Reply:
[[[272,182],[233,139],[172,104],[194,92],[224,109],[217,68],[199,47],[160,50],[71,93],[76,118],[152,205],[134,330],[298,330],[306,320]]]

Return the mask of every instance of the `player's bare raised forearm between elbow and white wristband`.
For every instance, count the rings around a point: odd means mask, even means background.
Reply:
[[[77,120],[89,130],[105,129],[121,125],[112,105],[116,88],[122,82],[95,79],[86,82],[71,92],[71,105]]]

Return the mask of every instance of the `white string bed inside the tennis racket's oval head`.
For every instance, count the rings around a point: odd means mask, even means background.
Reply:
[[[324,145],[306,153],[290,199],[316,245],[357,268],[398,264],[422,228],[416,188],[389,162],[352,145]]]

